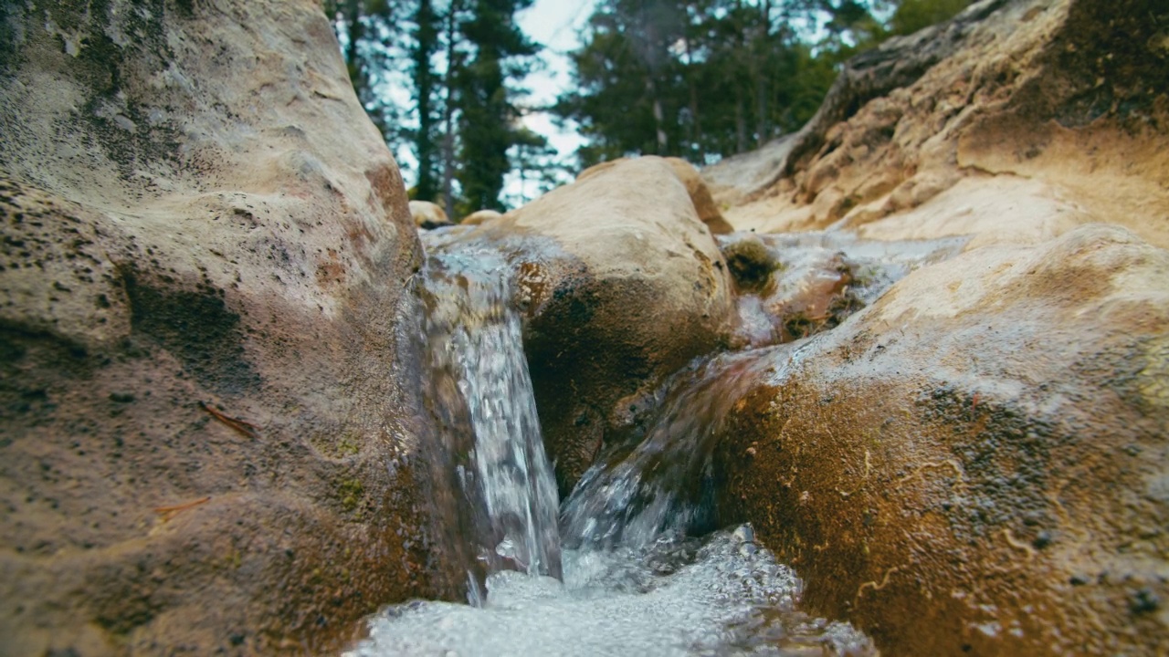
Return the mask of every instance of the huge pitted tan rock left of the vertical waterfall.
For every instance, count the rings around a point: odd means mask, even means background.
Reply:
[[[318,4],[0,22],[0,655],[319,653],[456,595],[421,251]]]

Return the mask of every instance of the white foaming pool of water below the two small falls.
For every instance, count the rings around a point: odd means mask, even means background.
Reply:
[[[800,580],[748,526],[642,548],[565,551],[565,581],[500,572],[483,609],[386,610],[348,657],[876,655],[848,624],[795,609]]]

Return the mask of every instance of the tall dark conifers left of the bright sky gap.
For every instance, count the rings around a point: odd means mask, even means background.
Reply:
[[[415,162],[415,198],[492,208],[518,143],[513,85],[537,53],[514,22],[532,0],[327,0],[358,98]],[[409,92],[409,106],[401,91]]]

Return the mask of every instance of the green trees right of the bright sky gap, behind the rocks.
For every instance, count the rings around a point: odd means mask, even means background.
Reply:
[[[798,130],[845,60],[967,4],[601,0],[555,111],[588,139],[582,167],[646,153],[706,164]]]

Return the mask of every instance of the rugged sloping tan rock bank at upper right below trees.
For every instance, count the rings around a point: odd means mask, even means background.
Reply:
[[[1097,221],[1169,247],[1165,20],[1155,0],[976,2],[851,60],[772,150],[769,181],[762,155],[728,165],[755,167],[741,186],[713,167],[708,179],[743,230],[963,231],[977,248]],[[941,207],[955,203],[964,215]]]

